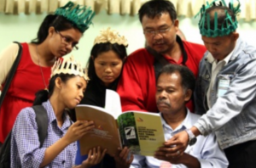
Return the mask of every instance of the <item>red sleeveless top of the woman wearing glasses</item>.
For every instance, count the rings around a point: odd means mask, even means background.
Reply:
[[[45,88],[40,67],[32,62],[27,43],[22,43],[22,46],[20,64],[0,109],[1,143],[12,129],[20,110],[32,106],[35,93]],[[42,70],[48,86],[50,67],[42,67]]]

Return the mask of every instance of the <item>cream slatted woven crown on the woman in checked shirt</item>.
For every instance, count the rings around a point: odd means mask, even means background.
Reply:
[[[74,76],[84,77],[85,81],[89,81],[89,77],[87,76],[87,70],[81,67],[76,60],[74,60],[73,56],[68,59],[58,59],[55,61],[55,64],[51,68],[51,76],[55,76],[57,74],[69,74]]]

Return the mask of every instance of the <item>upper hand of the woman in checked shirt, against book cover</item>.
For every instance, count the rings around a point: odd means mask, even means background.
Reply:
[[[77,120],[68,128],[67,133],[63,138],[65,138],[68,144],[73,143],[83,137],[86,133],[90,132],[94,127],[93,121]]]

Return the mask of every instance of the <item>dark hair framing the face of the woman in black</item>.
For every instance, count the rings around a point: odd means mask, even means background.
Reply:
[[[90,56],[93,56],[93,59],[91,57],[88,59],[87,62],[87,68],[88,68],[88,76],[90,78],[90,81],[96,81],[100,80],[98,76],[96,76],[96,70],[94,66],[94,59],[100,54],[108,51],[113,51],[114,53],[117,53],[119,56],[119,59],[122,59],[125,61],[125,57],[127,56],[126,48],[124,45],[119,45],[118,43],[99,43],[96,44],[90,51]],[[90,83],[89,81],[89,83]],[[116,80],[118,81],[118,79]]]

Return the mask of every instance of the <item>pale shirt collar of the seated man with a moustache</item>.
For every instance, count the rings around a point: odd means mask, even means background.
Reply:
[[[179,132],[179,131],[183,131],[187,128],[190,128],[191,126],[193,126],[193,120],[191,120],[191,112],[189,111],[189,109],[187,108],[187,115],[185,117],[185,119],[183,120],[183,122],[177,126],[177,128],[175,128],[175,130],[172,129],[171,126],[169,126],[166,123],[166,120],[164,119],[164,117],[162,116],[162,113],[160,113],[160,117],[161,117],[161,122],[163,124],[164,127],[169,128],[172,130],[172,132]]]

